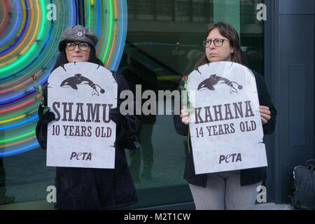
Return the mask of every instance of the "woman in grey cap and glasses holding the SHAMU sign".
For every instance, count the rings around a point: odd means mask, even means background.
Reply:
[[[68,27],[62,32],[59,43],[60,54],[54,69],[69,62],[92,62],[104,66],[95,56],[94,46],[98,38],[88,27],[80,25]],[[113,72],[118,83],[118,96],[123,90],[129,90],[123,76]],[[46,87],[47,89],[47,87]],[[47,105],[47,91],[44,99]],[[73,96],[74,97],[74,96]],[[116,123],[115,169],[94,169],[76,167],[56,167],[55,187],[57,202],[55,209],[115,209],[137,202],[137,194],[132,181],[124,144],[126,138],[133,137],[141,130],[141,122],[137,116],[121,115],[118,106],[109,113],[109,118]],[[54,113],[43,113],[38,108],[36,137],[42,148],[47,146],[47,126],[55,119]]]

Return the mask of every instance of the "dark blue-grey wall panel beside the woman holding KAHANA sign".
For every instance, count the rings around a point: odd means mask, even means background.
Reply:
[[[287,201],[293,168],[314,159],[314,2],[265,1],[266,83],[278,111],[267,198],[276,203]]]

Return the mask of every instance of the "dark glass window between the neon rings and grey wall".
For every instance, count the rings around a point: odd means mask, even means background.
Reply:
[[[248,66],[262,73],[263,32],[262,22],[256,19],[257,4],[229,0],[127,1],[128,15],[132,16],[128,17],[120,71],[134,91],[136,85],[141,85],[142,91],[176,90],[181,77],[190,73],[202,57],[209,22],[223,20],[239,32]],[[134,207],[192,202],[183,180],[187,137],[176,133],[172,116],[143,118],[141,150],[129,151],[139,193],[139,203]]]

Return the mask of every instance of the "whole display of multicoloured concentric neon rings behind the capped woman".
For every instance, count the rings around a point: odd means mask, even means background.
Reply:
[[[57,6],[56,21],[46,19],[48,3]],[[39,146],[34,136],[38,102],[30,98],[36,96],[30,76],[47,83],[62,30],[78,23],[78,6],[75,0],[1,0],[0,4],[5,14],[0,21],[0,34],[5,34],[0,36],[1,157]],[[84,5],[86,25],[99,37],[97,57],[116,70],[125,45],[126,0],[85,0]],[[71,15],[62,17],[64,11]]]

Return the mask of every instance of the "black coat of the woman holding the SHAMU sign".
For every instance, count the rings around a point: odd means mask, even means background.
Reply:
[[[120,92],[129,90],[125,79],[117,74],[118,99]],[[45,104],[47,105],[47,91]],[[118,109],[122,100],[118,100]],[[49,115],[50,113],[50,115]],[[51,112],[43,115],[39,106],[36,137],[42,148],[47,145],[47,123]],[[116,122],[115,169],[56,167],[55,187],[57,202],[55,209],[114,209],[137,202],[137,194],[125,156],[125,139],[141,130],[137,116],[122,116],[118,110],[110,113]]]

